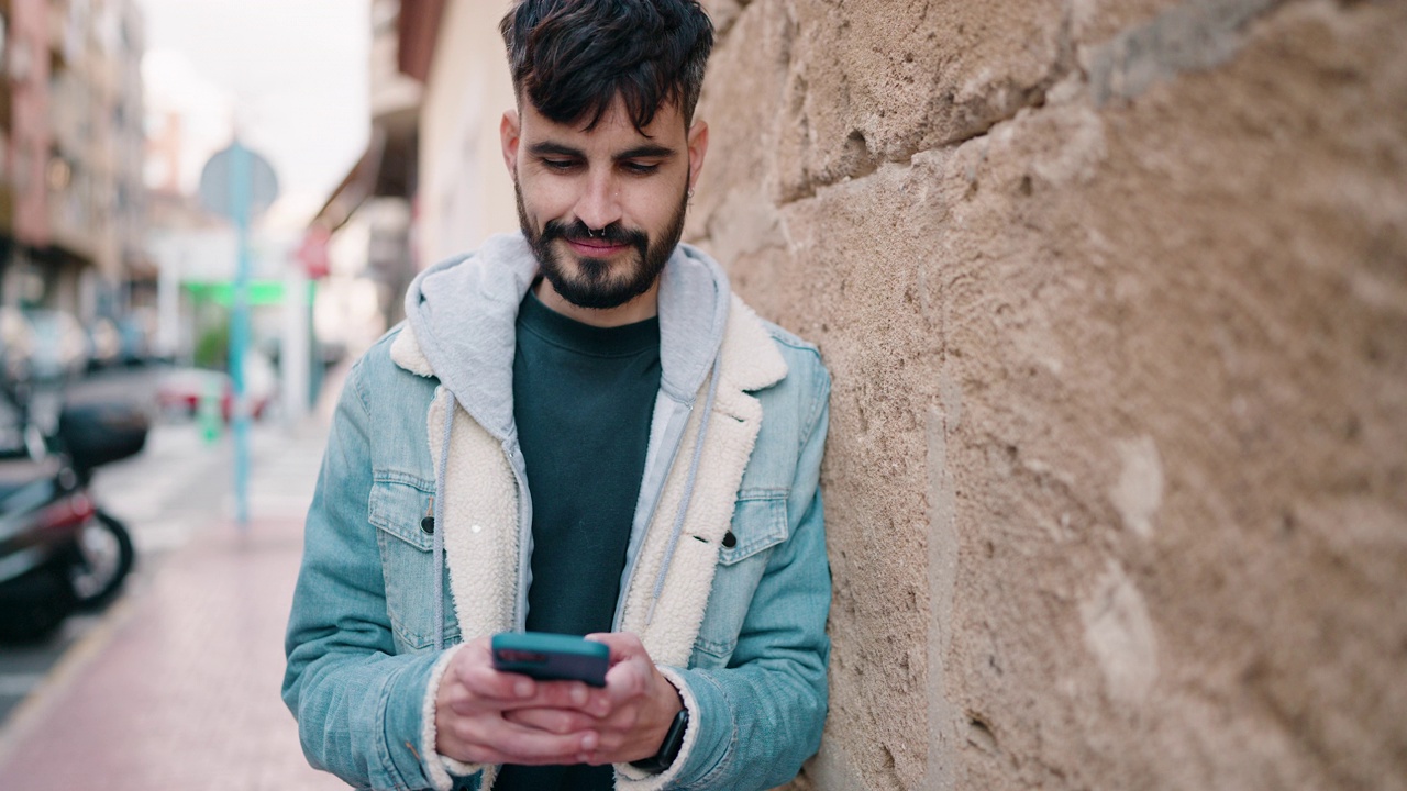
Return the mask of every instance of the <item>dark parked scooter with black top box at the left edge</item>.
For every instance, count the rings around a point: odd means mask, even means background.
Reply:
[[[65,407],[52,436],[27,425],[24,453],[0,459],[0,639],[41,639],[121,590],[131,533],[89,484],[96,467],[141,452],[149,428],[132,404]]]

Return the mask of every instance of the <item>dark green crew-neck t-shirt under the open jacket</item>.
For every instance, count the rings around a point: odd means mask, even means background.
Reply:
[[[658,390],[657,318],[599,328],[523,298],[514,419],[533,508],[529,631],[611,631]],[[505,766],[494,788],[612,785],[609,766]]]

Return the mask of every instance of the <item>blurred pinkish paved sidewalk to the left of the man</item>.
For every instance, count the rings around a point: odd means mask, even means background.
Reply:
[[[279,698],[321,443],[317,426],[256,436],[248,529],[211,504],[65,656],[0,732],[4,791],[346,787],[308,767]]]

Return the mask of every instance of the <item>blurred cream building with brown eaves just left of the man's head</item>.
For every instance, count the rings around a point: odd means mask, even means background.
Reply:
[[[498,124],[514,94],[498,35],[507,1],[376,0],[371,142],[318,224],[366,222],[388,322],[436,260],[518,228]],[[387,205],[391,201],[394,205]]]

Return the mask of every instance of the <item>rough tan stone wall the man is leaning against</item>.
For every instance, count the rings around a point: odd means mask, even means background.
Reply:
[[[834,374],[802,788],[1407,788],[1407,3],[705,0]]]

